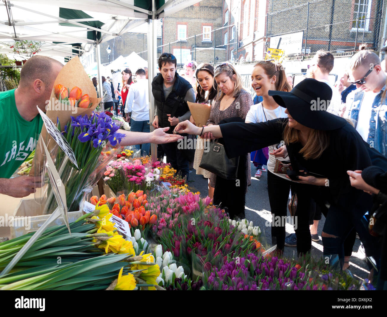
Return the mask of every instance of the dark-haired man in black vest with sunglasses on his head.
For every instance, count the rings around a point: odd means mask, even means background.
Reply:
[[[153,120],[154,128],[170,127],[167,133],[172,133],[179,122],[189,120],[187,101],[195,102],[195,93],[191,84],[176,72],[176,57],[170,53],[163,53],[159,58],[159,71],[152,81],[152,94],[156,104]],[[183,136],[187,136],[184,135]],[[167,162],[182,173],[182,177],[189,174],[189,162],[185,149],[178,147],[178,142],[162,145]]]

